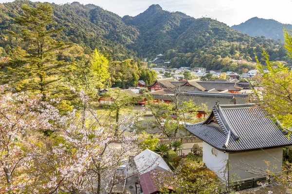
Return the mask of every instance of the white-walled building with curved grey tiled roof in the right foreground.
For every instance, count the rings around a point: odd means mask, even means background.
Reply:
[[[224,181],[280,172],[283,146],[292,145],[280,123],[255,104],[217,104],[205,121],[185,128],[203,141],[203,162]]]

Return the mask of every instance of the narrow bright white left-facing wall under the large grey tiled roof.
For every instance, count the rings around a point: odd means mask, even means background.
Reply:
[[[205,142],[203,143],[203,162],[222,180],[226,180],[227,178],[227,172],[224,171],[226,168],[227,160],[228,153],[219,151],[218,149],[210,146]]]

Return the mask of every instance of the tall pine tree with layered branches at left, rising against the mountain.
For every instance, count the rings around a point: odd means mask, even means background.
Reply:
[[[70,46],[62,41],[55,41],[52,36],[63,28],[54,28],[53,9],[49,4],[40,3],[36,8],[22,5],[24,14],[15,19],[22,26],[20,34],[9,31],[20,37],[26,47],[26,54],[11,60],[5,69],[5,79],[16,91],[34,91],[49,95],[64,95],[66,86],[60,84],[66,72],[67,62],[58,61],[57,53]]]

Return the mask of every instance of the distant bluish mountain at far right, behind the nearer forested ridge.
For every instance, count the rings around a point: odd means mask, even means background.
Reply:
[[[258,17],[253,17],[244,23],[239,25],[234,25],[231,28],[246,33],[250,36],[265,36],[267,38],[272,38],[274,40],[279,40],[284,42],[283,27],[287,30],[292,30],[291,24],[282,24],[274,19],[263,19]]]

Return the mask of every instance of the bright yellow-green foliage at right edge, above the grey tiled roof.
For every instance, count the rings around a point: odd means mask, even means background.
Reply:
[[[292,127],[292,71],[280,62],[272,63],[268,53],[263,50],[266,65],[257,61],[257,70],[262,76],[256,76],[252,80],[255,96],[251,98],[259,106],[263,107],[267,114],[276,121],[279,120],[286,128]],[[265,71],[266,68],[268,71]],[[255,86],[261,86],[255,88]]]

